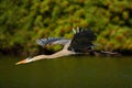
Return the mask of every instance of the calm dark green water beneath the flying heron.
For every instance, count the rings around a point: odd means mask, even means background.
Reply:
[[[0,88],[132,88],[132,57],[69,56],[18,65],[1,56]]]

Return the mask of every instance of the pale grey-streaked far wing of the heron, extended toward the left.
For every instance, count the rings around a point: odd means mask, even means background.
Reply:
[[[41,46],[51,45],[51,44],[62,44],[62,45],[65,45],[70,40],[66,40],[66,38],[63,38],[63,37],[47,37],[47,38],[36,40],[36,43],[38,45],[41,45]]]

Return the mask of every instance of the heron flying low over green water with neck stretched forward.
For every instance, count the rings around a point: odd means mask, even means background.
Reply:
[[[94,44],[94,41],[97,40],[97,35],[94,33],[92,30],[80,29],[80,28],[77,28],[75,30],[73,28],[73,33],[74,33],[74,37],[72,40],[64,38],[64,37],[47,37],[47,38],[36,40],[36,43],[41,46],[61,44],[61,45],[64,45],[64,47],[63,50],[52,55],[43,54],[43,55],[33,56],[33,57],[28,57],[23,61],[15,63],[15,65],[26,64],[26,63],[31,63],[40,59],[52,59],[52,58],[57,58],[62,56],[95,52],[94,47],[97,45]]]

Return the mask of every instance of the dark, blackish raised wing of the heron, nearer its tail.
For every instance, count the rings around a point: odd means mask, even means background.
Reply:
[[[90,50],[94,45],[92,42],[97,38],[95,33],[91,30],[79,28],[77,28],[77,31],[75,31],[74,29],[73,31],[75,34],[68,50],[75,52],[86,52]]]

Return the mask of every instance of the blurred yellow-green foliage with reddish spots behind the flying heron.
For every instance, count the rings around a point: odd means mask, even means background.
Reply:
[[[97,33],[99,50],[132,50],[132,1],[0,1],[0,50],[37,52],[36,38],[72,38],[72,29],[77,26]]]

